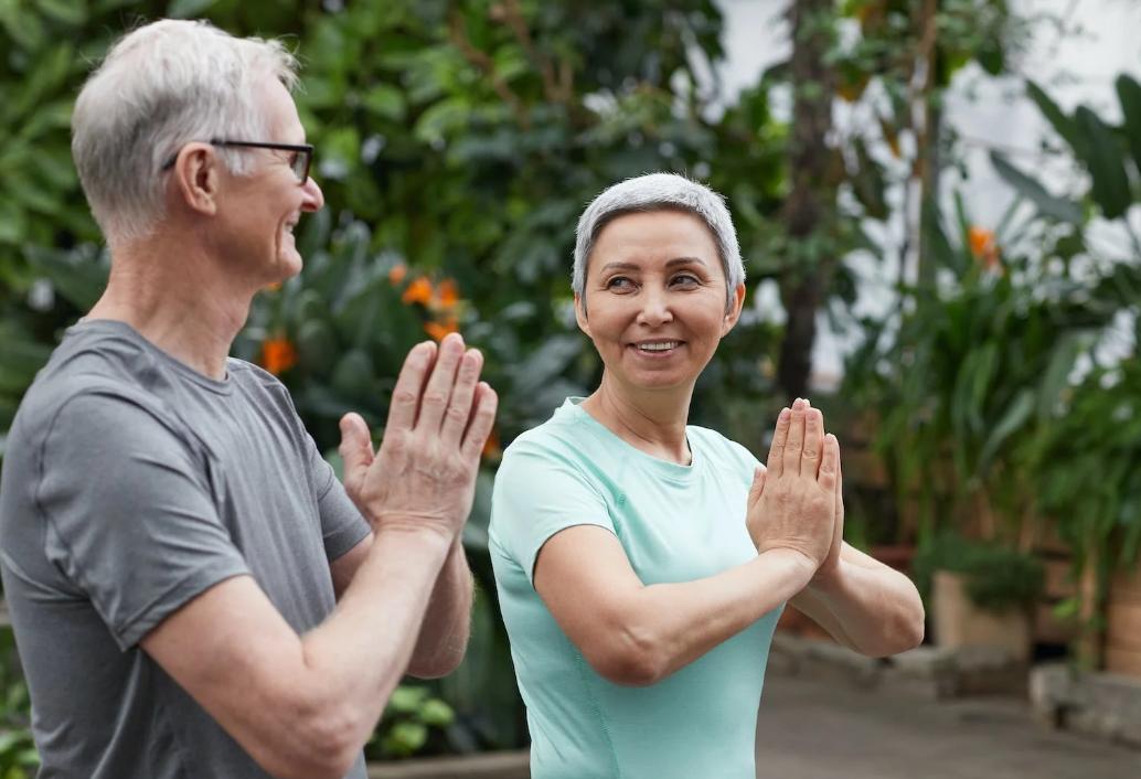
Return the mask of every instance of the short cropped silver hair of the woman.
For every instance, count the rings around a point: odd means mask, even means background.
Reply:
[[[626,213],[671,210],[691,213],[710,228],[725,270],[726,310],[733,307],[734,291],[745,282],[745,266],[725,197],[677,173],[649,173],[605,189],[578,218],[570,286],[582,299],[583,310],[586,306],[586,265],[602,228]]]

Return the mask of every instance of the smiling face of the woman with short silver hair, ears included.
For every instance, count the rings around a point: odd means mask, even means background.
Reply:
[[[628,213],[602,228],[588,258],[578,326],[613,380],[631,389],[691,389],[741,315],[705,224],[683,211]]]

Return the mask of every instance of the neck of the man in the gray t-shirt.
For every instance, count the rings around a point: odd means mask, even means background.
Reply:
[[[225,379],[253,292],[227,285],[207,252],[167,249],[178,245],[168,236],[113,249],[107,289],[87,318],[124,322],[175,359]]]

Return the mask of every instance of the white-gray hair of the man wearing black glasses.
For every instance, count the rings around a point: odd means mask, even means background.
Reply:
[[[72,156],[108,243],[153,233],[164,216],[162,165],[184,145],[269,140],[267,78],[297,83],[297,60],[281,42],[234,38],[208,22],[154,22],[108,50],[72,114]],[[249,154],[217,152],[233,173],[251,170]]]

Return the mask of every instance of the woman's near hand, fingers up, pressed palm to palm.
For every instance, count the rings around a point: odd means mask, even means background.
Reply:
[[[746,524],[758,552],[791,549],[819,569],[835,539],[839,466],[840,445],[824,435],[820,412],[800,399],[780,412],[768,470],[758,469],[748,494]]]

